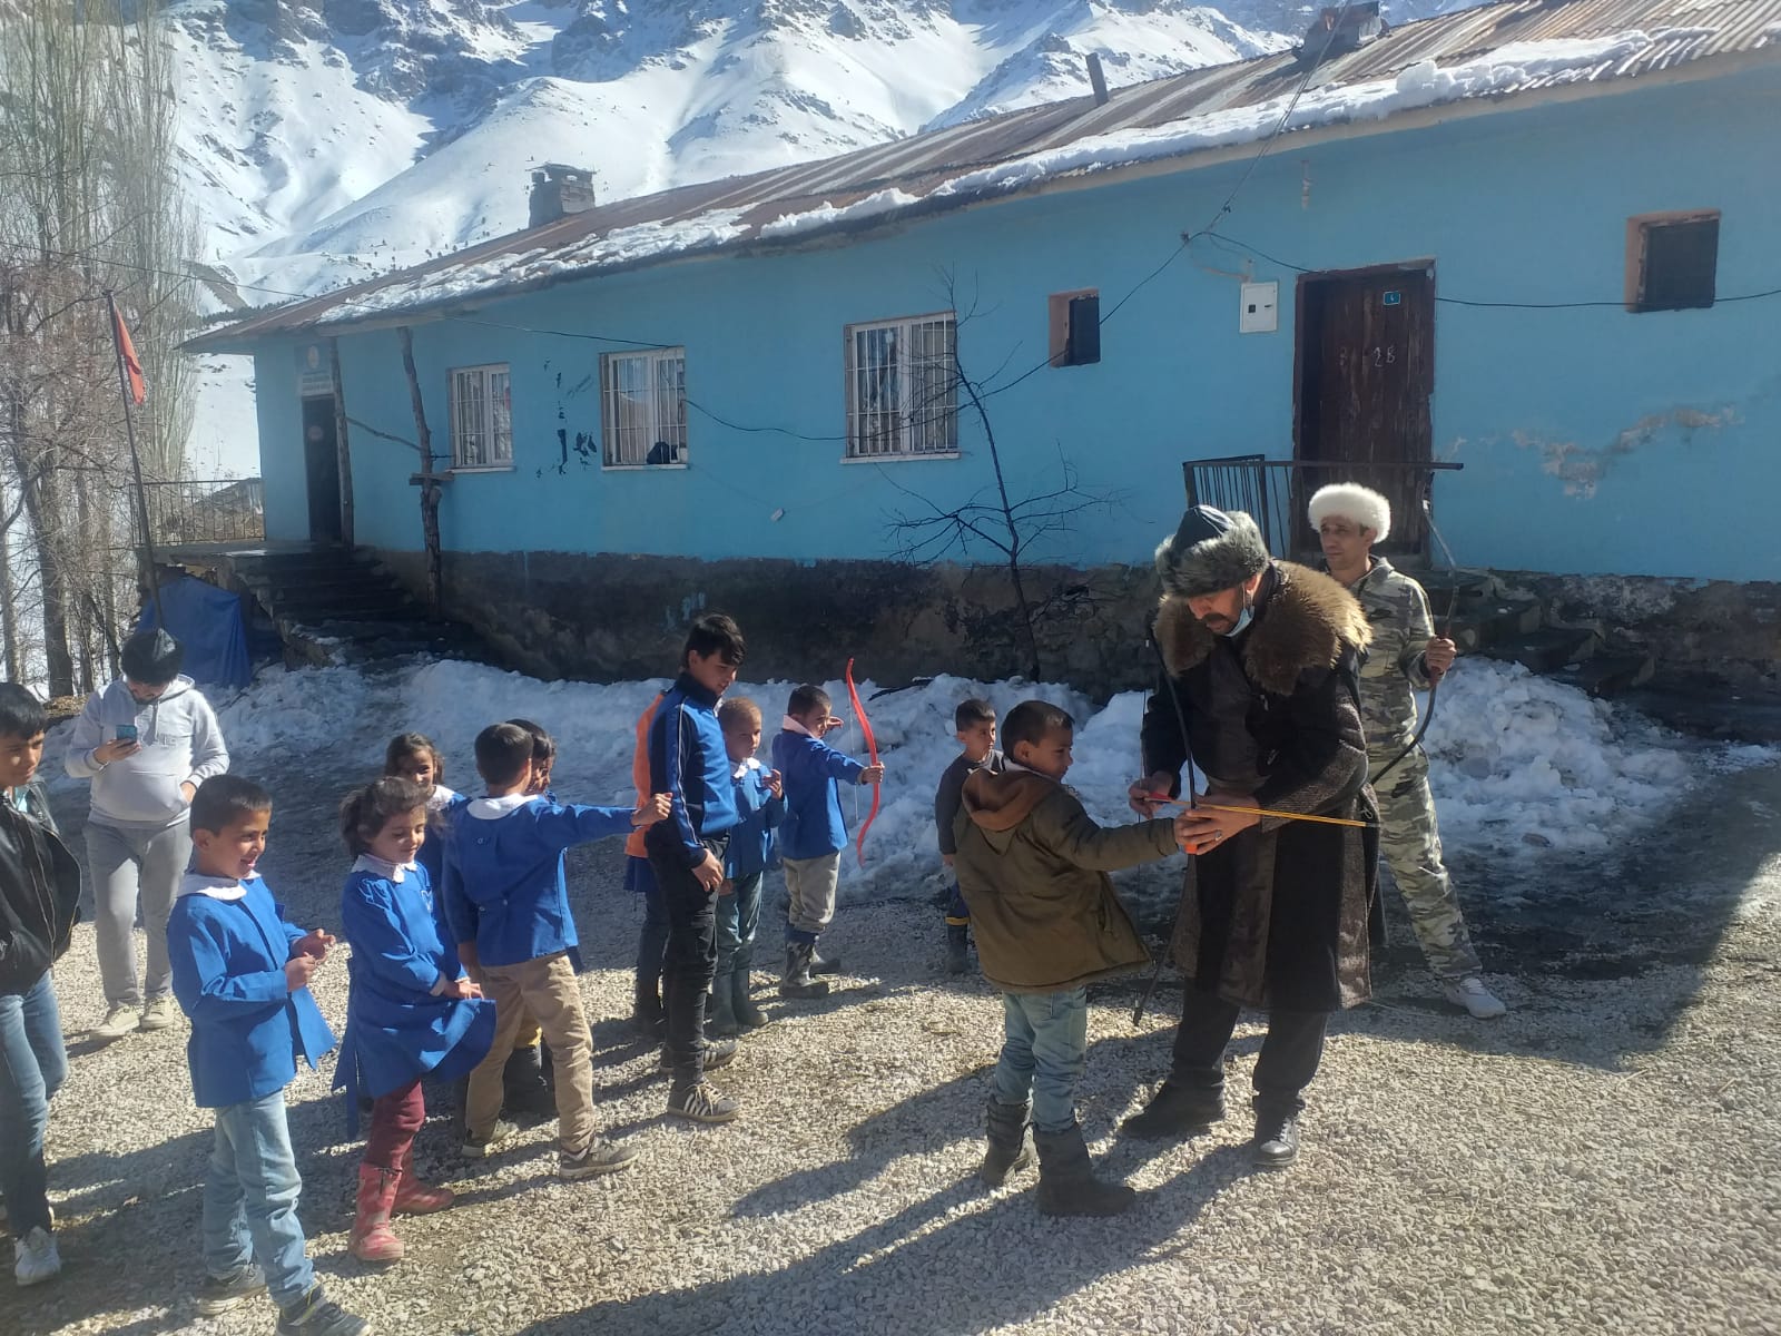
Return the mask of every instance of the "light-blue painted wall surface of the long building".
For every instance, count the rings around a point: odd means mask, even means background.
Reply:
[[[1777,86],[1770,69],[1302,151],[1286,139],[1222,230],[1313,269],[1434,257],[1441,297],[1617,303],[1628,216],[1720,208],[1719,292],[1781,287]],[[1181,232],[1206,224],[1241,169],[1056,192],[798,255],[657,267],[493,303],[483,319],[684,344],[695,403],[734,424],[839,436],[844,324],[944,308],[939,271],[951,267],[960,310],[978,308],[960,333],[967,371],[1003,369],[1006,381],[1045,356],[1047,294],[1097,287],[1110,310]],[[1179,518],[1183,460],[1291,456],[1295,274],[1256,262],[1257,280],[1281,281],[1281,331],[1240,335],[1238,283],[1209,273],[1240,267],[1240,255],[1197,242],[1110,319],[1099,365],[1047,367],[990,399],[1017,493],[1056,485],[1060,449],[1083,488],[1120,493],[1038,558],[1147,561]],[[1466,470],[1439,481],[1437,520],[1459,559],[1781,579],[1767,542],[1781,488],[1777,335],[1781,299],[1649,315],[1441,305],[1434,442]],[[447,547],[871,558],[892,550],[894,511],[921,509],[899,486],[951,508],[990,485],[969,408],[962,460],[846,465],[839,440],[746,433],[695,411],[689,468],[602,472],[595,367],[611,347],[467,321],[415,328],[442,454],[447,369],[513,372],[516,468],[449,485]],[[296,399],[265,372],[280,358],[290,353],[258,358],[269,527],[274,477],[294,477],[301,497]],[[395,335],[344,337],[342,360],[353,417],[413,436]],[[586,435],[593,461],[570,451],[565,465],[559,429]],[[362,543],[420,547],[413,467],[411,451],[354,429]]]

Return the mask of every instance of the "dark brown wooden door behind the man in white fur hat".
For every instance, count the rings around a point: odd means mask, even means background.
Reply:
[[[1305,274],[1298,281],[1298,468],[1293,515],[1300,542],[1313,492],[1361,483],[1391,501],[1387,552],[1423,552],[1435,385],[1434,265]]]

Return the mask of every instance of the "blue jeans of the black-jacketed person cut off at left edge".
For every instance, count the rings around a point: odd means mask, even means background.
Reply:
[[[27,992],[0,998],[0,1193],[14,1238],[50,1227],[43,1129],[64,1076],[62,1017],[45,971]]]

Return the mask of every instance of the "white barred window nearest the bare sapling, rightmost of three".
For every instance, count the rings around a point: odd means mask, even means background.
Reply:
[[[930,342],[935,335],[940,335],[939,349]],[[850,324],[842,344],[848,369],[844,463],[956,460],[956,312]],[[873,358],[871,365],[860,365],[862,353]],[[931,403],[923,406],[923,397]]]

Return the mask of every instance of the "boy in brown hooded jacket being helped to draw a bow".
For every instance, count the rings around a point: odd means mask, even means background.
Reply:
[[[1088,1060],[1086,985],[1149,962],[1108,873],[1174,853],[1179,818],[1095,825],[1063,786],[1074,736],[1076,721],[1056,705],[1015,705],[1003,723],[1004,770],[965,780],[953,823],[953,871],[983,976],[1003,992],[1008,1035],[980,1176],[996,1186],[1028,1163],[1031,1110],[1038,1210],[1118,1215],[1136,1193],[1094,1176],[1076,1122],[1076,1083]]]

